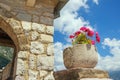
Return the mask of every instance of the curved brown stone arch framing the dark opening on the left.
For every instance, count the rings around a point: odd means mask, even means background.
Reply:
[[[17,58],[18,53],[20,51],[25,51],[29,49],[28,47],[28,40],[24,34],[24,30],[21,26],[20,21],[15,20],[13,18],[6,18],[3,16],[0,16],[0,28],[8,34],[8,36],[12,39],[14,42],[14,55],[13,55],[13,61],[12,61],[12,68],[10,75],[12,79],[15,80],[16,77],[16,68],[17,68]]]

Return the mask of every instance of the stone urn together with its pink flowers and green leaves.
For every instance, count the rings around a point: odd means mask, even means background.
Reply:
[[[95,47],[95,44],[100,42],[98,32],[88,27],[81,27],[69,37],[72,39],[73,46],[63,51],[66,68],[94,68],[98,62]]]

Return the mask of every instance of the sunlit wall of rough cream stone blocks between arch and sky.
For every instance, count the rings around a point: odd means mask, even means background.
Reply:
[[[18,53],[16,74],[26,75],[26,80],[27,76],[29,80],[54,80],[52,75],[54,68],[53,26],[25,21],[22,21],[22,26],[29,41],[29,51]],[[28,61],[24,61],[26,59]],[[17,76],[16,80],[19,78],[21,80],[20,76]]]

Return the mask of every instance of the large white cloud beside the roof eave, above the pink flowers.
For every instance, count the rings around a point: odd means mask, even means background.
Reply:
[[[88,9],[88,0],[69,0],[69,2],[61,10],[61,17],[55,19],[54,26],[56,31],[63,34],[71,34],[77,31],[81,26],[89,26],[89,21],[84,20],[83,17],[78,17],[78,10],[80,8]]]

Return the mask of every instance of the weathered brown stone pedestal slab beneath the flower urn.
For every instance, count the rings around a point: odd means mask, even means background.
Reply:
[[[106,71],[91,68],[74,68],[54,72],[55,80],[111,80]]]

